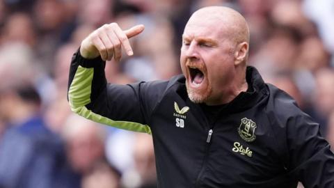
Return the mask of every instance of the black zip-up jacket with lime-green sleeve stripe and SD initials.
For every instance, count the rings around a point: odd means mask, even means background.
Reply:
[[[182,75],[106,84],[105,63],[74,54],[68,98],[81,116],[152,133],[159,187],[334,187],[334,155],[319,125],[248,67],[249,89],[208,119]],[[207,109],[207,108],[205,108]],[[216,118],[215,118],[216,117]]]

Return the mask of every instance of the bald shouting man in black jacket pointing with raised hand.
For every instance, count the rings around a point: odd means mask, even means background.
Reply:
[[[128,55],[128,38],[106,24],[74,54],[68,98],[81,116],[152,133],[159,187],[334,187],[334,156],[319,125],[247,67],[249,29],[225,7],[193,13],[182,36],[183,75],[106,84],[104,61]]]

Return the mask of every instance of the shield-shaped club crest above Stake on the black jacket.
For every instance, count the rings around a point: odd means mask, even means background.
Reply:
[[[238,132],[241,136],[241,139],[244,139],[244,141],[247,142],[251,142],[255,141],[256,139],[255,129],[256,123],[253,120],[250,120],[248,118],[242,118],[241,124],[238,128]]]

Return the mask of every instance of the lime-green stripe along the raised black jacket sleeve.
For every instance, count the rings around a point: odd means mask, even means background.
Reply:
[[[85,107],[86,104],[90,103],[93,75],[93,68],[84,68],[79,65],[68,91],[68,99],[72,111],[97,123],[103,123],[105,125],[110,125],[123,130],[151,134],[151,129],[148,125],[142,125],[141,123],[128,121],[111,120],[97,113],[94,113]]]

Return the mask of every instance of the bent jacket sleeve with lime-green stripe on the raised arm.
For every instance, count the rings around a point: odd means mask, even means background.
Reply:
[[[79,50],[72,57],[67,97],[72,111],[97,123],[151,134],[150,115],[167,81],[107,84],[105,62],[86,59]]]

